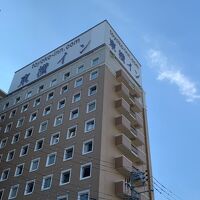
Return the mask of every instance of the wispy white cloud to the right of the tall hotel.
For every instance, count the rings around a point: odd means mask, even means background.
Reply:
[[[148,59],[151,62],[151,66],[158,72],[158,80],[167,80],[171,84],[176,85],[188,102],[200,99],[196,84],[177,67],[173,66],[161,51],[149,50]]]

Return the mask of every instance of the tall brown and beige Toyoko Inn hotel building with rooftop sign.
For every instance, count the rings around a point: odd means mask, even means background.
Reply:
[[[15,72],[0,199],[153,200],[141,66],[107,21]]]

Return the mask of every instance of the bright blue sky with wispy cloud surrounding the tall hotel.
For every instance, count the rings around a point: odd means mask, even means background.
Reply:
[[[197,0],[0,0],[0,89],[8,91],[19,68],[107,19],[142,65],[153,176],[169,192],[155,190],[155,199],[199,200],[199,7]]]

